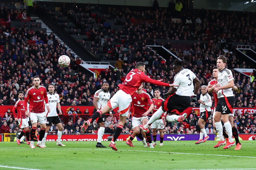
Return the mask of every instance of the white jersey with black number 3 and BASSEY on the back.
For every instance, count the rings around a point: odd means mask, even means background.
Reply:
[[[175,76],[173,84],[179,85],[174,87],[177,89],[176,94],[179,96],[193,96],[193,80],[196,78],[195,74],[189,69],[181,69]]]

